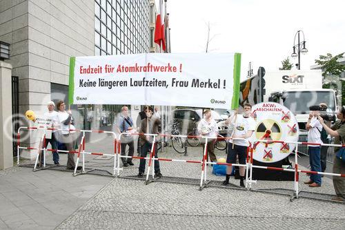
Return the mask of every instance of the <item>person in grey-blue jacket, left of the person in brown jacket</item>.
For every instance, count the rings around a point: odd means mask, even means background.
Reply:
[[[117,120],[117,131],[119,133],[128,133],[134,130],[132,118],[128,115],[128,107],[122,106],[121,116]],[[121,135],[121,155],[126,155],[126,146],[128,145],[128,158],[121,157],[122,164],[124,167],[129,165],[134,165],[132,163],[132,156],[134,154],[134,140],[130,134]],[[130,157],[130,158],[129,158]]]

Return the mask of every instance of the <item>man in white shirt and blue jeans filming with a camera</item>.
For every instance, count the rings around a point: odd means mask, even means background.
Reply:
[[[323,144],[321,140],[322,124],[317,119],[319,111],[311,111],[309,119],[306,123],[306,130],[308,130],[308,142]],[[321,172],[321,146],[308,144],[309,163],[311,171]],[[310,187],[321,186],[321,175],[311,174],[310,180],[304,182],[309,184]]]

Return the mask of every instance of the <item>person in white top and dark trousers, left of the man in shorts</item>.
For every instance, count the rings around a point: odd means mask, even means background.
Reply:
[[[210,156],[211,162],[217,162],[217,157],[215,155],[215,138],[218,135],[218,126],[217,122],[215,122],[215,119],[213,119],[212,113],[209,109],[206,109],[204,111],[204,118],[201,119],[201,121],[197,125],[197,131],[204,137],[213,137],[211,139],[208,139],[207,154],[208,156]],[[205,146],[203,145],[202,147],[204,152]]]

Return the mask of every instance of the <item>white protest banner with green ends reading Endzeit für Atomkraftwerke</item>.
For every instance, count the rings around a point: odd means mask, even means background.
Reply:
[[[237,108],[239,53],[70,57],[70,104]]]

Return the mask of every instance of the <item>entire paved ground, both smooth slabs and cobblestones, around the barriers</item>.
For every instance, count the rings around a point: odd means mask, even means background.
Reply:
[[[86,151],[113,153],[112,146],[88,143]],[[225,157],[225,151],[216,151]],[[66,154],[60,154],[66,165]],[[166,148],[159,157],[201,160],[201,147],[188,148],[188,156]],[[48,155],[51,162],[51,155]],[[86,156],[86,166],[112,173],[113,157]],[[32,163],[32,162],[31,162]],[[138,173],[135,166],[124,168],[121,178],[100,175],[72,176],[72,171],[42,170],[32,172],[14,166],[0,171],[0,229],[233,229],[235,227],[272,229],[344,229],[345,205],[299,198],[290,202],[287,195],[244,191],[220,186],[223,177],[212,175],[212,185],[199,191],[200,164],[160,162],[164,177],[148,185],[131,180]],[[146,168],[147,170],[147,168]],[[170,179],[169,179],[170,178]],[[164,182],[189,178],[192,184]],[[332,180],[323,178],[319,188],[302,182],[304,193],[334,195]],[[254,189],[285,189],[293,182],[258,181]],[[292,191],[291,191],[292,193]]]

